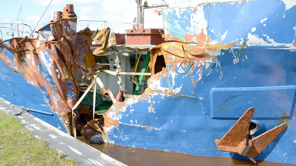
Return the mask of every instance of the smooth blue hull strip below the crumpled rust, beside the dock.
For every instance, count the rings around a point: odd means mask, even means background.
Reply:
[[[45,105],[45,96],[36,87],[28,83],[22,75],[14,73],[0,60],[0,97],[18,106],[52,113],[53,116],[30,111],[37,118],[67,133],[58,115]]]

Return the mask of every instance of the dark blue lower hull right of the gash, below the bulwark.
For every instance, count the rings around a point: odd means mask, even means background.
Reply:
[[[161,87],[171,91],[182,86],[180,92],[168,95],[146,90],[146,100],[141,101],[142,95],[128,98],[125,102],[132,104],[116,114],[107,112],[113,121],[120,121],[118,128],[114,125],[110,131],[107,129],[108,139],[122,146],[248,159],[220,152],[214,140],[222,138],[245,110],[255,107],[253,119],[260,125],[255,136],[283,122],[288,124],[287,130],[255,159],[296,163],[296,56],[290,50],[270,48],[273,47],[231,48],[241,59],[236,64],[230,49],[221,50],[216,61],[220,65],[214,65],[195,85],[192,79],[195,82],[198,76],[190,73],[158,73]],[[116,107],[121,105],[114,104],[111,110],[117,112]]]

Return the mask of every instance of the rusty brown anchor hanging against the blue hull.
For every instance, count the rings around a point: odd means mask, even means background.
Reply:
[[[220,140],[215,140],[220,151],[238,153],[247,156],[256,163],[254,158],[287,128],[287,124],[282,123],[257,137],[251,138],[249,137],[249,126],[253,114],[254,107],[250,107]]]

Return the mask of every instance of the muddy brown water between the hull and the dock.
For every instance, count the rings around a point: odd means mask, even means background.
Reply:
[[[83,136],[77,139],[86,143]],[[175,152],[161,152],[156,150],[147,150],[118,146],[111,143],[89,144],[99,151],[123,162],[129,166],[216,166],[216,165],[237,165],[237,166],[292,166],[295,164],[273,163],[269,161],[257,161],[254,164],[248,160],[238,160],[232,158],[213,158],[195,155],[187,155]]]

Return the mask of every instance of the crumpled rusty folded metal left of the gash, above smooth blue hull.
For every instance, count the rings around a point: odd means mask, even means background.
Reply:
[[[71,108],[77,102],[79,82],[84,81],[84,73],[95,74],[91,68],[95,59],[90,47],[97,32],[86,28],[76,33],[73,5],[66,8],[62,18],[55,15],[55,21],[38,30],[38,38],[12,38],[1,42],[0,57],[11,70],[39,88],[45,104],[71,134]],[[105,40],[112,41],[109,34],[101,39]]]

